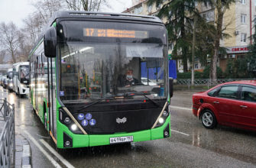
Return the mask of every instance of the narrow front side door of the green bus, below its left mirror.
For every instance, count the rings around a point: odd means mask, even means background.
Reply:
[[[51,133],[54,135],[55,131],[53,131],[53,125],[54,125],[54,95],[53,92],[55,92],[54,90],[54,81],[53,81],[53,76],[54,76],[54,68],[53,68],[53,61],[52,58],[48,58],[47,59],[47,73],[48,73],[48,111],[49,111],[49,131],[51,131]]]

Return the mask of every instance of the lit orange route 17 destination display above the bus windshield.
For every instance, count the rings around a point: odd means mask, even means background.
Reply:
[[[116,29],[83,28],[84,37],[120,37],[120,38],[147,38],[147,31],[127,31]]]

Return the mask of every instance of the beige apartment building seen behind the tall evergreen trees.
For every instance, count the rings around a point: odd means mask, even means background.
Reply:
[[[157,15],[160,8],[168,2],[164,0],[162,5],[156,6],[147,5],[145,1],[133,1],[134,6],[123,11],[124,13],[132,13],[138,15]],[[137,2],[137,3],[136,3]],[[210,5],[197,4],[199,12],[206,18],[206,21],[213,22],[216,19],[215,8]],[[167,20],[162,19],[165,23]],[[254,26],[256,24],[256,0],[241,0],[234,2],[230,8],[225,11],[223,19],[224,33],[229,34],[228,38],[220,41],[220,46],[226,48],[225,54],[219,54],[218,66],[224,72],[228,59],[238,59],[239,57],[245,57],[248,53],[248,46],[253,43],[252,34],[254,34]],[[171,43],[170,43],[171,44]],[[168,53],[171,53],[173,45],[169,46]],[[207,62],[210,60],[208,59]],[[188,67],[191,68],[191,63],[188,63]],[[204,67],[199,63],[199,60],[195,60],[195,70],[203,71]],[[177,61],[177,69],[180,73],[183,73],[183,64],[181,60]]]

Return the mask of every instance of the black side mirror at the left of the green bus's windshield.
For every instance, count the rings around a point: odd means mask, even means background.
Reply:
[[[44,34],[44,54],[46,57],[56,57],[57,34],[55,27],[50,27]]]

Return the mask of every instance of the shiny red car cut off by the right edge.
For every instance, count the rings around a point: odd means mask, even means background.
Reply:
[[[205,128],[222,124],[256,131],[256,80],[226,82],[193,94],[193,115]]]

